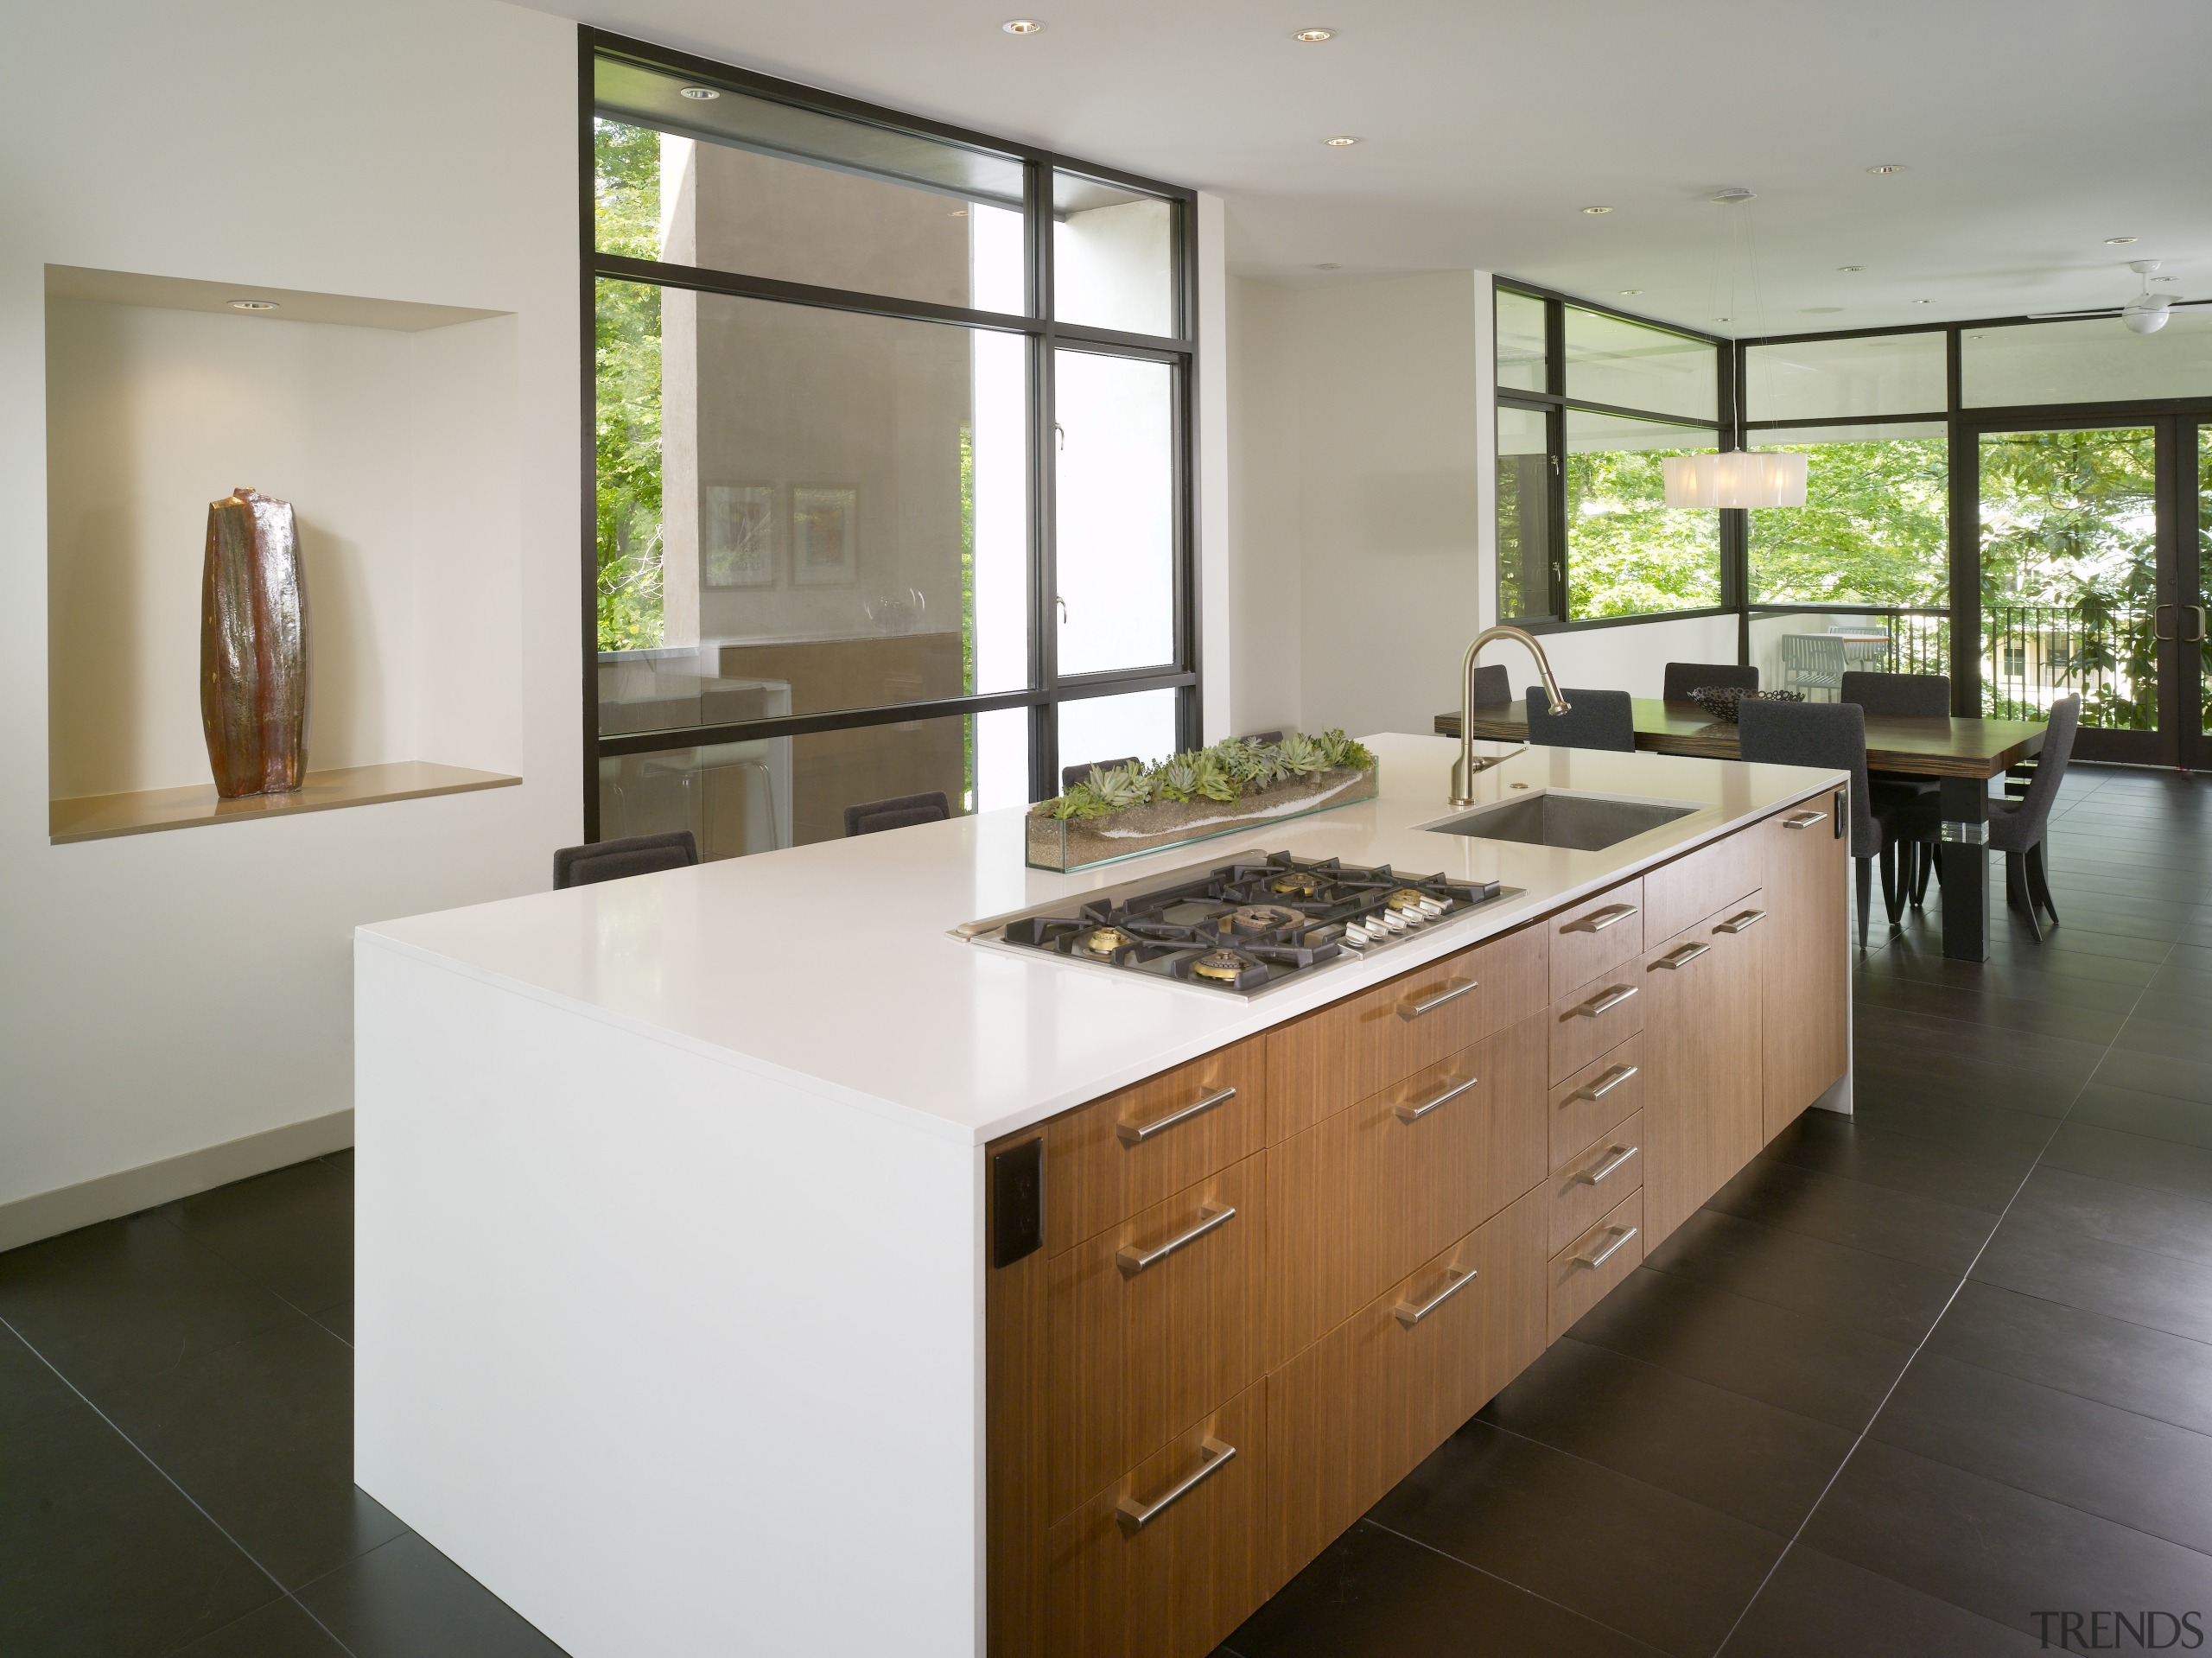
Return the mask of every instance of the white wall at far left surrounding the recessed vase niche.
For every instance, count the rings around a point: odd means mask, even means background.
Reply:
[[[97,113],[58,64],[86,66]],[[343,1112],[352,926],[544,886],[580,833],[575,31],[487,0],[20,11],[0,153],[4,1205]],[[513,314],[504,349],[442,369],[509,374],[511,429],[453,433],[438,464],[520,455],[515,500],[420,544],[511,542],[520,604],[460,590],[440,626],[453,674],[511,681],[520,732],[422,752],[504,749],[522,787],[46,844],[46,263]],[[161,504],[192,548],[210,500],[261,482],[237,460]]]

